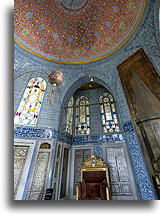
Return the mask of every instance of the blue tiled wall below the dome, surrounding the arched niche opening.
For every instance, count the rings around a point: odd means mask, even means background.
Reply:
[[[142,21],[130,40],[111,56],[94,63],[81,65],[56,64],[38,58],[15,44],[14,113],[31,78],[40,76],[47,81],[47,89],[37,125],[35,127],[15,125],[15,137],[36,140],[58,138],[61,142],[65,141],[71,145],[82,146],[87,143],[93,143],[94,152],[100,157],[102,157],[103,143],[125,143],[130,156],[139,199],[155,199],[139,140],[132,124],[126,97],[117,72],[117,66],[138,49],[143,48],[157,72],[160,73],[158,11],[159,1],[148,1]],[[55,89],[53,103],[50,105],[49,99],[52,86],[48,83],[48,74],[56,68],[63,72],[64,81]],[[64,134],[66,118],[63,115],[63,109],[67,106],[67,102],[74,92],[81,85],[88,82],[90,77],[93,77],[95,82],[107,88],[114,96],[121,123],[121,132],[119,134],[103,135],[100,129],[91,132],[90,136],[74,136],[72,138],[72,136]]]

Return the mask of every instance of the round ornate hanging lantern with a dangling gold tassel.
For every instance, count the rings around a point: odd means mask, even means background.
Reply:
[[[54,96],[54,87],[61,84],[63,80],[64,80],[64,75],[59,70],[53,71],[51,74],[49,74],[48,81],[53,86],[51,91],[50,104],[52,104],[52,98]]]

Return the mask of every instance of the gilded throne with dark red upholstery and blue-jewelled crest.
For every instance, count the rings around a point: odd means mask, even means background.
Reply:
[[[99,157],[92,155],[83,163],[76,200],[110,200],[108,166]]]

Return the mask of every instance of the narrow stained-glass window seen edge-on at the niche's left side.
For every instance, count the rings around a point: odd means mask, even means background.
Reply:
[[[72,120],[73,120],[73,97],[70,98],[68,102],[68,108],[67,108],[67,126],[66,126],[66,132],[69,134],[72,134]]]

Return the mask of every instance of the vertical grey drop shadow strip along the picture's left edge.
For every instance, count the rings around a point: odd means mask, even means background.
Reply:
[[[7,121],[6,121],[6,135],[7,135],[7,154],[6,154],[6,173],[7,173],[7,187],[6,190],[8,191],[7,194],[7,199],[9,203],[13,201],[14,198],[14,136],[13,136],[13,131],[14,131],[14,123],[13,123],[13,107],[14,107],[14,11],[13,8],[8,8],[7,11],[7,27],[8,29],[7,35],[7,41],[8,41],[8,46],[7,46],[7,71],[6,71],[6,82],[7,82],[7,93],[6,93],[6,100],[7,100]]]

